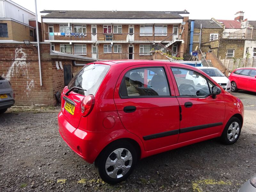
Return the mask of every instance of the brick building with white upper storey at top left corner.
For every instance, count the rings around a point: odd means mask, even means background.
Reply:
[[[36,41],[35,18],[35,13],[19,4],[0,0],[0,41]]]

